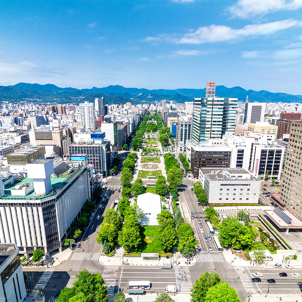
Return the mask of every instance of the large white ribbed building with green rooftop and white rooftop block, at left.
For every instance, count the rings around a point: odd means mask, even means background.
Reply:
[[[5,187],[0,197],[0,243],[15,242],[21,254],[37,248],[46,254],[61,252],[71,223],[89,198],[87,168],[81,165],[67,174],[56,171],[52,160],[37,159],[26,170],[27,177]]]

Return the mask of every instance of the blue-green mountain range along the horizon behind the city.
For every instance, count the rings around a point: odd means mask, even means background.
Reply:
[[[238,98],[245,101],[249,95],[249,101],[258,102],[301,102],[302,95],[290,95],[287,93],[273,93],[266,90],[246,90],[236,86],[227,88],[223,85],[216,87],[216,96],[220,98]],[[205,97],[203,89],[153,89],[126,88],[120,85],[108,87],[92,87],[90,89],[77,89],[72,87],[61,88],[53,84],[18,83],[11,86],[0,86],[0,101],[20,102],[36,101],[39,103],[79,103],[83,100],[94,101],[95,97],[104,96],[107,104],[125,104],[130,101],[133,104],[150,103],[162,99],[173,100],[179,103],[192,101],[194,97]]]

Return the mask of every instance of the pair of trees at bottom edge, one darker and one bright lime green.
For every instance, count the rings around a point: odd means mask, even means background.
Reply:
[[[196,279],[191,291],[196,302],[241,302],[235,289],[223,282],[214,271],[204,271]]]

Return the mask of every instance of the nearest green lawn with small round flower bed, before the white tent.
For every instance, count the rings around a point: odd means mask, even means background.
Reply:
[[[141,227],[141,238],[142,243],[137,247],[136,250],[130,252],[130,254],[125,255],[140,255],[140,253],[159,253],[161,256],[171,256],[171,253],[165,253],[162,251],[159,241],[158,241],[158,234],[159,234],[159,226],[142,226]],[[149,236],[153,238],[153,241],[150,243],[146,243],[144,239]]]

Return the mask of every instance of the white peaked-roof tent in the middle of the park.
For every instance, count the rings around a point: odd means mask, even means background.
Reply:
[[[138,195],[137,205],[145,213],[145,216],[140,218],[139,223],[144,226],[158,226],[157,215],[162,210],[160,196],[150,192]]]

